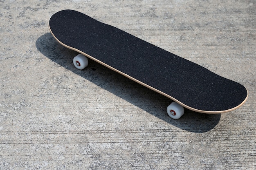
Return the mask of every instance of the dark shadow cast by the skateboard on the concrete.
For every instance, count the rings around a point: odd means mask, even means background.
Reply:
[[[220,114],[202,114],[188,109],[185,109],[185,114],[180,119],[171,119],[166,113],[166,107],[172,102],[171,99],[133,82],[90,59],[88,67],[83,71],[76,69],[72,60],[78,53],[59,44],[51,33],[40,36],[36,40],[36,48],[53,62],[183,130],[203,133],[213,129],[220,121]]]

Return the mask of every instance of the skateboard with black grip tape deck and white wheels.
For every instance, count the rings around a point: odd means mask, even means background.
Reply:
[[[58,11],[49,29],[57,42],[80,53],[73,60],[76,68],[84,69],[90,58],[170,98],[174,102],[166,110],[173,119],[184,107],[226,113],[248,97],[243,85],[78,11]]]

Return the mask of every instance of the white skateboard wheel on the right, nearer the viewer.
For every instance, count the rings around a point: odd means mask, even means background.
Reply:
[[[184,114],[184,108],[176,103],[172,102],[166,109],[168,115],[173,119],[180,119],[180,117]]]

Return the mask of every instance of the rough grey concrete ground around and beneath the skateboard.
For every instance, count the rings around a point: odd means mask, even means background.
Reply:
[[[247,102],[206,115],[54,40],[74,9],[243,84]],[[0,0],[0,169],[256,169],[254,0]]]

